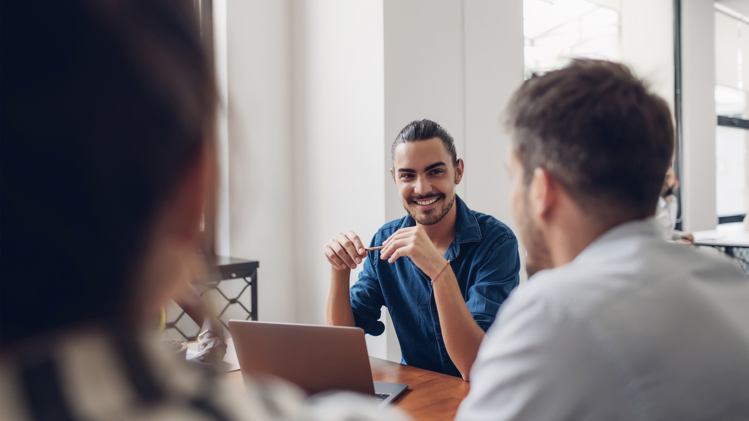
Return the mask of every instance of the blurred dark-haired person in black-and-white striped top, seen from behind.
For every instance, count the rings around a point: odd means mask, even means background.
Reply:
[[[1,14],[0,418],[404,420],[275,380],[238,393],[156,339],[200,258],[216,172],[192,1]]]

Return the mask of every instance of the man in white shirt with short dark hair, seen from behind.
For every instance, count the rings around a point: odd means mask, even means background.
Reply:
[[[749,279],[667,243],[666,102],[574,61],[509,104],[530,276],[482,343],[458,420],[747,420]]]

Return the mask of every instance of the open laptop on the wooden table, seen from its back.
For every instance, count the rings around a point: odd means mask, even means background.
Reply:
[[[352,390],[388,405],[407,384],[372,381],[359,327],[229,321],[243,375],[275,375],[309,394]]]

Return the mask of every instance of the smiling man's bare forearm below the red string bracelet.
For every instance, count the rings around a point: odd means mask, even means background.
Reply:
[[[468,311],[451,267],[434,280],[434,301],[440,317],[442,337],[452,363],[468,380],[485,333]]]

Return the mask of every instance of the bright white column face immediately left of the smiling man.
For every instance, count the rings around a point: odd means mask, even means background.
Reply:
[[[383,6],[295,1],[292,11],[297,258],[286,264],[296,265],[297,321],[324,324],[324,243],[349,229],[369,243],[385,222]]]

